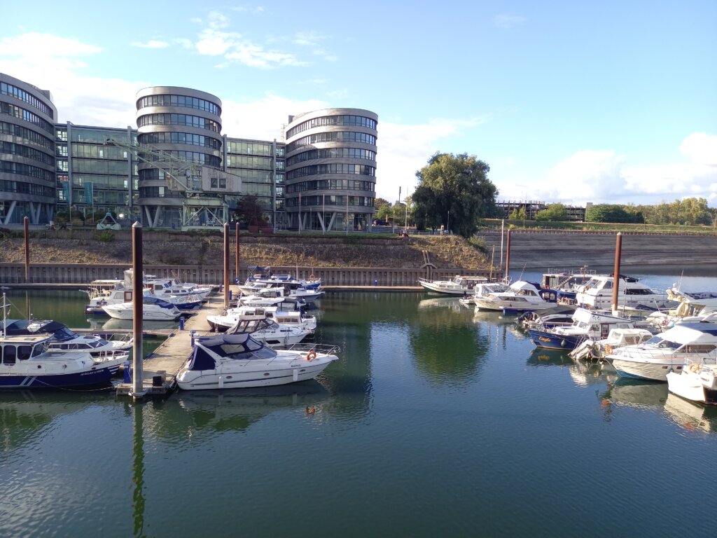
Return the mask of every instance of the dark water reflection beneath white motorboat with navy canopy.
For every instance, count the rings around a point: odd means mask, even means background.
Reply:
[[[193,440],[197,435],[246,431],[281,410],[320,418],[333,401],[331,393],[316,379],[275,387],[180,391],[173,399],[182,411],[173,422]]]

